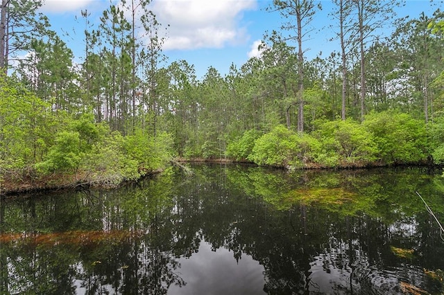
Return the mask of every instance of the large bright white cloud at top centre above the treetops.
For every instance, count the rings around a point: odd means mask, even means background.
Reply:
[[[221,48],[248,39],[239,21],[257,0],[154,0],[152,5],[160,24],[169,25],[164,49]]]

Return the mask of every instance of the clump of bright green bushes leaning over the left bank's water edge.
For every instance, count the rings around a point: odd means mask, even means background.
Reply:
[[[116,186],[164,168],[172,157],[168,134],[153,137],[137,129],[122,136],[88,114],[69,121],[67,129],[56,134],[44,161],[35,164],[40,174],[71,171],[92,184]]]

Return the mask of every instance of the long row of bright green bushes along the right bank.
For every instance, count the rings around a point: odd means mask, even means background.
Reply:
[[[356,120],[318,120],[309,134],[284,125],[261,134],[245,132],[228,145],[239,161],[287,168],[348,168],[443,163],[443,123],[429,125],[408,114],[373,112]]]

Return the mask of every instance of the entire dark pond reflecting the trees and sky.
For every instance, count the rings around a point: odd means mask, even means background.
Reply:
[[[441,171],[191,171],[2,199],[0,294],[444,292]]]

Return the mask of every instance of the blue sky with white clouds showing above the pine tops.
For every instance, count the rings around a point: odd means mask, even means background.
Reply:
[[[120,0],[46,0],[40,9],[51,28],[67,42],[75,55],[75,62],[82,62],[85,48],[85,24],[81,10],[91,13],[90,21],[99,24],[99,17],[110,4]],[[137,0],[136,0],[137,1]],[[383,1],[383,0],[381,0]],[[385,0],[384,0],[385,1]],[[320,1],[323,9],[316,12],[309,36],[303,42],[305,57],[322,57],[339,48],[334,37],[331,0]],[[163,53],[167,64],[186,60],[193,64],[198,79],[210,66],[221,75],[228,73],[230,65],[238,68],[250,57],[257,56],[257,45],[264,33],[279,30],[282,17],[278,12],[268,12],[271,0],[152,0],[151,10],[162,26],[167,26]],[[444,10],[441,0],[407,0],[406,6],[397,8],[398,17],[409,15],[418,18],[420,12],[432,16],[437,9]],[[391,28],[386,28],[390,30]],[[166,65],[167,65],[166,64]]]

